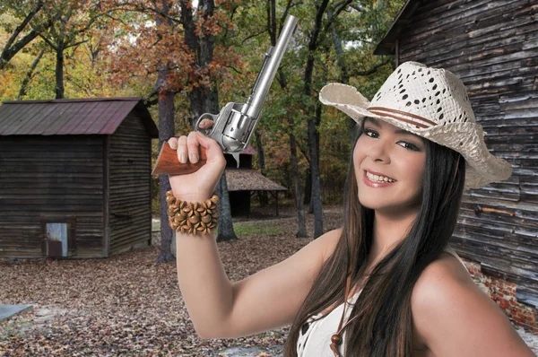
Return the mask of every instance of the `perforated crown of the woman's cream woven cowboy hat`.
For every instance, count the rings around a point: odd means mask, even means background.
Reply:
[[[409,116],[408,126],[413,128],[476,122],[464,83],[445,69],[417,62],[398,66],[368,109]]]

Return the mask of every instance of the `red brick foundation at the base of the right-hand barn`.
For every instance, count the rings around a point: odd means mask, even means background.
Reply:
[[[492,300],[497,302],[516,326],[538,334],[538,311],[531,305],[517,301],[516,283],[485,275],[482,273],[480,264],[464,257],[462,257],[462,260],[471,276],[473,276],[474,283],[483,292],[487,293]]]

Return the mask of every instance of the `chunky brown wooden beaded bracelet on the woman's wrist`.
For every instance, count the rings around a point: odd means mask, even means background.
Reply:
[[[219,196],[213,195],[204,202],[182,201],[172,191],[166,193],[169,225],[174,231],[181,233],[203,233],[217,228],[219,222]]]

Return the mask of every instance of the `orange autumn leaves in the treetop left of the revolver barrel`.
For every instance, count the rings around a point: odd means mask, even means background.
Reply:
[[[195,21],[197,39],[195,45],[187,46],[187,23],[178,13],[179,7],[170,7],[168,16],[146,13],[145,16],[133,16],[136,22],[117,24],[121,32],[114,46],[107,49],[110,58],[110,70],[113,81],[122,83],[134,78],[155,81],[157,74],[166,71],[166,82],[161,83],[161,91],[189,90],[198,86],[208,86],[216,81],[229,83],[230,65],[240,68],[240,58],[234,55],[233,48],[215,48],[213,61],[204,64],[201,57],[207,56],[208,36],[215,37],[223,29],[233,26],[226,13],[215,10],[209,16],[200,8],[194,8],[190,2],[181,3],[183,11],[192,11]],[[132,9],[131,9],[132,10]],[[172,15],[173,14],[173,15]],[[188,17],[188,16],[187,16]],[[154,21],[147,21],[147,19]],[[145,23],[143,22],[145,20]],[[136,23],[138,25],[136,25]],[[192,40],[192,39],[191,39]]]

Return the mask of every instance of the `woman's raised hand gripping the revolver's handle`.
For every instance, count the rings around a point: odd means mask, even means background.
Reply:
[[[200,123],[200,127],[203,129],[211,126],[213,126],[213,121],[209,119],[204,119]],[[178,151],[180,163],[198,162],[200,146],[205,148],[207,156],[207,161],[200,170],[187,175],[169,176],[174,196],[188,202],[201,202],[210,198],[226,167],[226,159],[224,159],[221,146],[200,132],[190,132],[187,136],[171,137],[168,143],[170,148]]]

